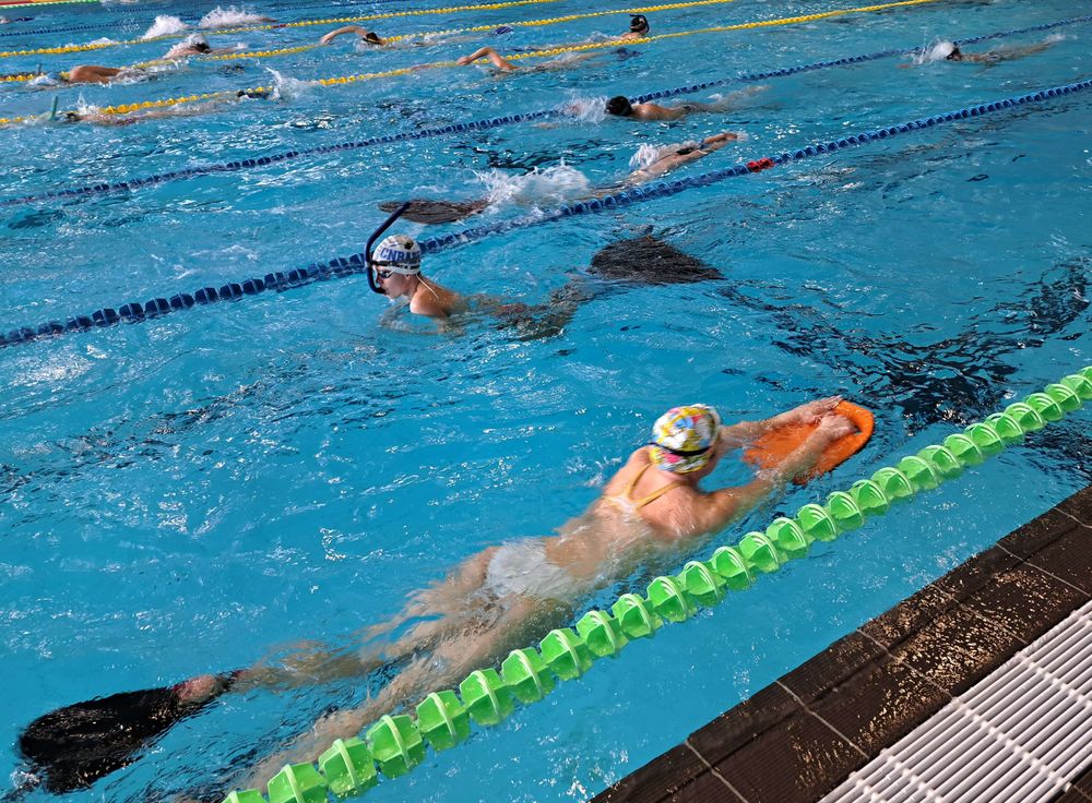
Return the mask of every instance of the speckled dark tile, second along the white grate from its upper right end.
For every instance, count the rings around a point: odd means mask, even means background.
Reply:
[[[892,656],[953,697],[1024,646],[1021,639],[970,608],[957,606],[902,644]]]

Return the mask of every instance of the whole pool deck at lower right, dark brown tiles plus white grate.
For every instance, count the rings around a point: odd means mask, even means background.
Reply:
[[[1092,721],[1092,661],[1072,658],[1090,648],[1092,486],[594,801],[871,803],[931,793],[1092,803],[1092,727],[1077,722]],[[1035,697],[1028,690],[1036,684],[1061,702]],[[996,727],[990,711],[998,710],[1017,711],[1014,728],[1007,715],[1011,733]],[[1044,752],[1044,743],[1057,745]],[[982,757],[994,747],[997,758]],[[950,778],[961,772],[965,780],[954,786]],[[946,777],[947,787],[934,786]]]

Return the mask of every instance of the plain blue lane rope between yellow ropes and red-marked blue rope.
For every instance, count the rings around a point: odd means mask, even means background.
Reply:
[[[1085,16],[1075,16],[1067,20],[1059,20],[1057,22],[1045,23],[1043,25],[1035,25],[1030,28],[1013,28],[1012,31],[1001,31],[994,34],[986,34],[984,36],[975,37],[973,39],[962,39],[963,43],[978,41],[987,38],[1000,38],[1004,36],[1016,36],[1018,34],[1024,34],[1031,31],[1046,31],[1049,28],[1060,27],[1063,25],[1076,25],[1078,23],[1084,23],[1092,21],[1092,14]],[[677,95],[692,94],[696,92],[704,92],[707,89],[717,88],[721,86],[726,86],[729,84],[740,83],[740,82],[753,82],[753,81],[765,81],[771,77],[780,77],[784,75],[793,75],[795,73],[808,72],[810,70],[822,70],[832,67],[846,67],[850,64],[859,64],[864,61],[875,61],[877,59],[883,59],[890,56],[902,56],[906,53],[919,53],[922,48],[911,48],[911,49],[894,49],[894,50],[879,50],[874,53],[865,53],[862,56],[850,56],[844,59],[834,59],[832,61],[815,61],[809,64],[799,64],[796,67],[786,67],[780,70],[771,70],[769,72],[756,72],[756,73],[740,73],[739,75],[731,79],[720,79],[716,81],[707,81],[701,84],[693,84],[691,86],[680,86],[674,89],[661,89],[658,92],[652,92],[645,95],[638,95],[637,97],[630,98],[630,103],[643,104],[649,100],[658,100],[667,97],[675,97]],[[124,192],[128,190],[135,190],[141,187],[151,187],[153,184],[162,184],[168,181],[175,181],[176,179],[188,179],[195,176],[206,176],[215,172],[235,172],[237,170],[248,170],[254,167],[264,167],[265,165],[272,165],[277,161],[285,161],[287,159],[295,159],[305,156],[314,156],[319,154],[335,153],[340,151],[357,151],[361,148],[375,147],[376,145],[388,145],[396,142],[408,142],[411,140],[427,140],[434,136],[443,136],[446,134],[452,133],[464,133],[467,131],[483,131],[486,129],[499,128],[501,125],[511,125],[513,123],[530,122],[534,120],[545,120],[551,118],[567,118],[569,115],[560,111],[558,109],[542,109],[539,111],[530,111],[522,115],[506,115],[505,117],[494,117],[483,120],[475,120],[472,122],[461,122],[453,123],[451,125],[436,127],[431,129],[422,129],[420,131],[403,132],[399,134],[390,134],[385,136],[372,136],[367,140],[360,140],[358,142],[343,142],[337,145],[320,145],[318,147],[304,148],[301,151],[287,151],[280,154],[273,154],[271,156],[262,156],[258,158],[239,159],[237,161],[227,161],[215,165],[202,165],[198,167],[190,167],[182,170],[170,170],[168,172],[153,173],[152,176],[146,176],[144,178],[130,179],[128,181],[114,181],[111,183],[100,183],[91,184],[87,187],[81,187],[78,189],[70,190],[55,190],[52,192],[45,192],[38,195],[22,195],[19,197],[3,199],[0,200],[0,208],[5,206],[19,206],[22,204],[38,203],[43,201],[55,201],[58,199],[72,199],[72,197],[87,197],[90,195],[103,195],[112,192]]]

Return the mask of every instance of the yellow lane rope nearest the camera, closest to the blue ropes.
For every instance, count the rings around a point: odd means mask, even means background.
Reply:
[[[806,22],[815,22],[818,20],[828,20],[834,16],[844,16],[847,14],[866,14],[874,11],[885,11],[887,9],[906,8],[911,5],[925,5],[927,3],[940,2],[940,0],[898,0],[898,2],[880,3],[877,5],[862,5],[855,9],[838,9],[834,11],[822,11],[817,14],[804,14],[800,16],[785,16],[778,20],[762,20],[759,22],[745,22],[736,23],[734,25],[716,25],[712,27],[698,28],[696,31],[679,31],[670,34],[660,34],[657,36],[646,36],[643,39],[629,39],[626,40],[626,45],[646,45],[654,41],[663,41],[665,39],[677,39],[682,36],[696,36],[699,34],[712,34],[712,33],[723,33],[726,31],[747,31],[752,28],[763,28],[763,27],[774,27],[779,25],[798,25]],[[512,56],[505,57],[509,61],[517,61],[520,59],[533,59],[533,58],[546,58],[550,56],[560,56],[567,52],[579,52],[584,50],[594,50],[597,48],[605,47],[617,47],[619,44],[618,39],[612,41],[594,41],[582,45],[568,45],[566,47],[549,48],[546,50],[535,50],[533,52],[526,53],[515,53]],[[330,79],[317,79],[314,81],[305,82],[310,86],[336,86],[341,84],[355,84],[360,81],[371,81],[373,79],[380,77],[393,77],[396,75],[407,75],[411,72],[416,72],[417,70],[425,70],[431,68],[440,67],[455,67],[454,61],[434,61],[427,64],[416,64],[414,67],[404,67],[397,70],[387,70],[383,72],[368,72],[361,73],[359,75],[341,75]],[[273,87],[259,86],[251,89],[247,89],[247,93],[268,93],[272,92]],[[195,103],[198,100],[207,100],[216,97],[228,97],[233,95],[238,95],[238,92],[224,91],[224,92],[213,92],[205,93],[203,95],[189,95],[185,97],[176,98],[164,98],[162,100],[143,100],[135,104],[122,104],[120,106],[107,106],[99,109],[99,113],[103,115],[129,115],[134,111],[140,111],[142,109],[159,109],[169,106],[177,106],[179,104]],[[25,120],[35,119],[33,116],[26,117],[15,117],[15,118],[0,118],[0,124],[10,124],[16,122],[23,122]]]

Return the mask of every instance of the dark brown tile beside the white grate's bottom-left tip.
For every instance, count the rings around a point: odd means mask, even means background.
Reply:
[[[716,765],[749,803],[812,803],[868,759],[812,717],[794,715]]]

